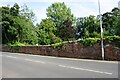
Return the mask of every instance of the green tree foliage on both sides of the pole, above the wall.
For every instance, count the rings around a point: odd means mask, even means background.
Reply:
[[[104,36],[120,36],[120,9],[114,8],[111,12],[102,15]],[[99,18],[95,16],[81,17],[76,20],[76,38],[100,37]]]

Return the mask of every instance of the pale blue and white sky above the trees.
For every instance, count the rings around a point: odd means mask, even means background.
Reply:
[[[99,0],[101,13],[110,12],[114,7],[118,7],[120,0]],[[54,2],[65,2],[75,17],[86,17],[89,15],[98,15],[98,0],[0,0],[0,6],[7,4],[13,6],[18,3],[20,6],[26,4],[37,17],[36,23],[47,18],[46,9]]]

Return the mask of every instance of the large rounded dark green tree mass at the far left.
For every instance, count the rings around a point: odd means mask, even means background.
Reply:
[[[2,41],[7,43],[36,43],[36,32],[33,23],[20,15],[19,5],[14,4],[13,7],[0,7],[2,14],[0,14],[2,25]]]

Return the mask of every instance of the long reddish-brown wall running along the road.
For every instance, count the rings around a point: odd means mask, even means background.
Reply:
[[[90,47],[83,46],[80,43],[69,43],[61,48],[53,48],[52,46],[21,46],[9,48],[3,46],[2,51],[82,59],[102,59],[101,47],[99,44]],[[105,46],[105,59],[120,61],[120,48],[110,45]]]

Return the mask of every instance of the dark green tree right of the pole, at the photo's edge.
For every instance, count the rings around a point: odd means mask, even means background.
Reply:
[[[103,28],[104,28],[105,35],[107,36],[118,35],[117,29],[118,29],[119,20],[120,20],[119,17],[120,17],[119,8],[114,8],[112,9],[111,12],[106,12],[103,14]]]

